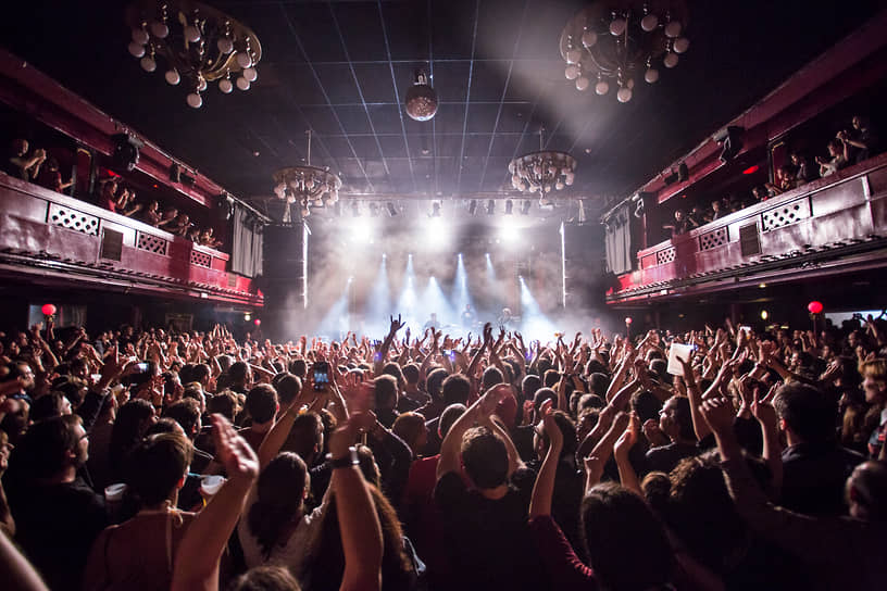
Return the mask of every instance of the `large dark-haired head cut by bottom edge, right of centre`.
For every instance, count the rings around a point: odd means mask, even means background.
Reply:
[[[595,574],[608,589],[642,591],[670,581],[674,553],[644,500],[612,482],[583,499],[583,538]]]

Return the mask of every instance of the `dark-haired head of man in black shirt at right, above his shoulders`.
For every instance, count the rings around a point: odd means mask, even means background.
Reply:
[[[791,382],[780,387],[773,406],[789,444],[823,443],[835,437],[837,404],[812,386]]]

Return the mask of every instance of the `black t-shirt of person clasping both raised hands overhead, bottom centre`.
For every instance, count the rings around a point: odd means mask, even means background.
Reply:
[[[519,469],[505,495],[492,500],[469,490],[454,471],[435,486],[446,545],[457,566],[457,589],[540,589],[541,567],[527,526],[534,474]]]

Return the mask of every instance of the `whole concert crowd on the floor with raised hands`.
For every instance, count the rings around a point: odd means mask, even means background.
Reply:
[[[887,580],[883,319],[549,342],[390,320],[0,335],[3,587]]]

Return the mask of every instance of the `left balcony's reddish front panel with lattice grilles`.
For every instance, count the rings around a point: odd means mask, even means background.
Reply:
[[[261,305],[228,255],[0,173],[0,276]]]

